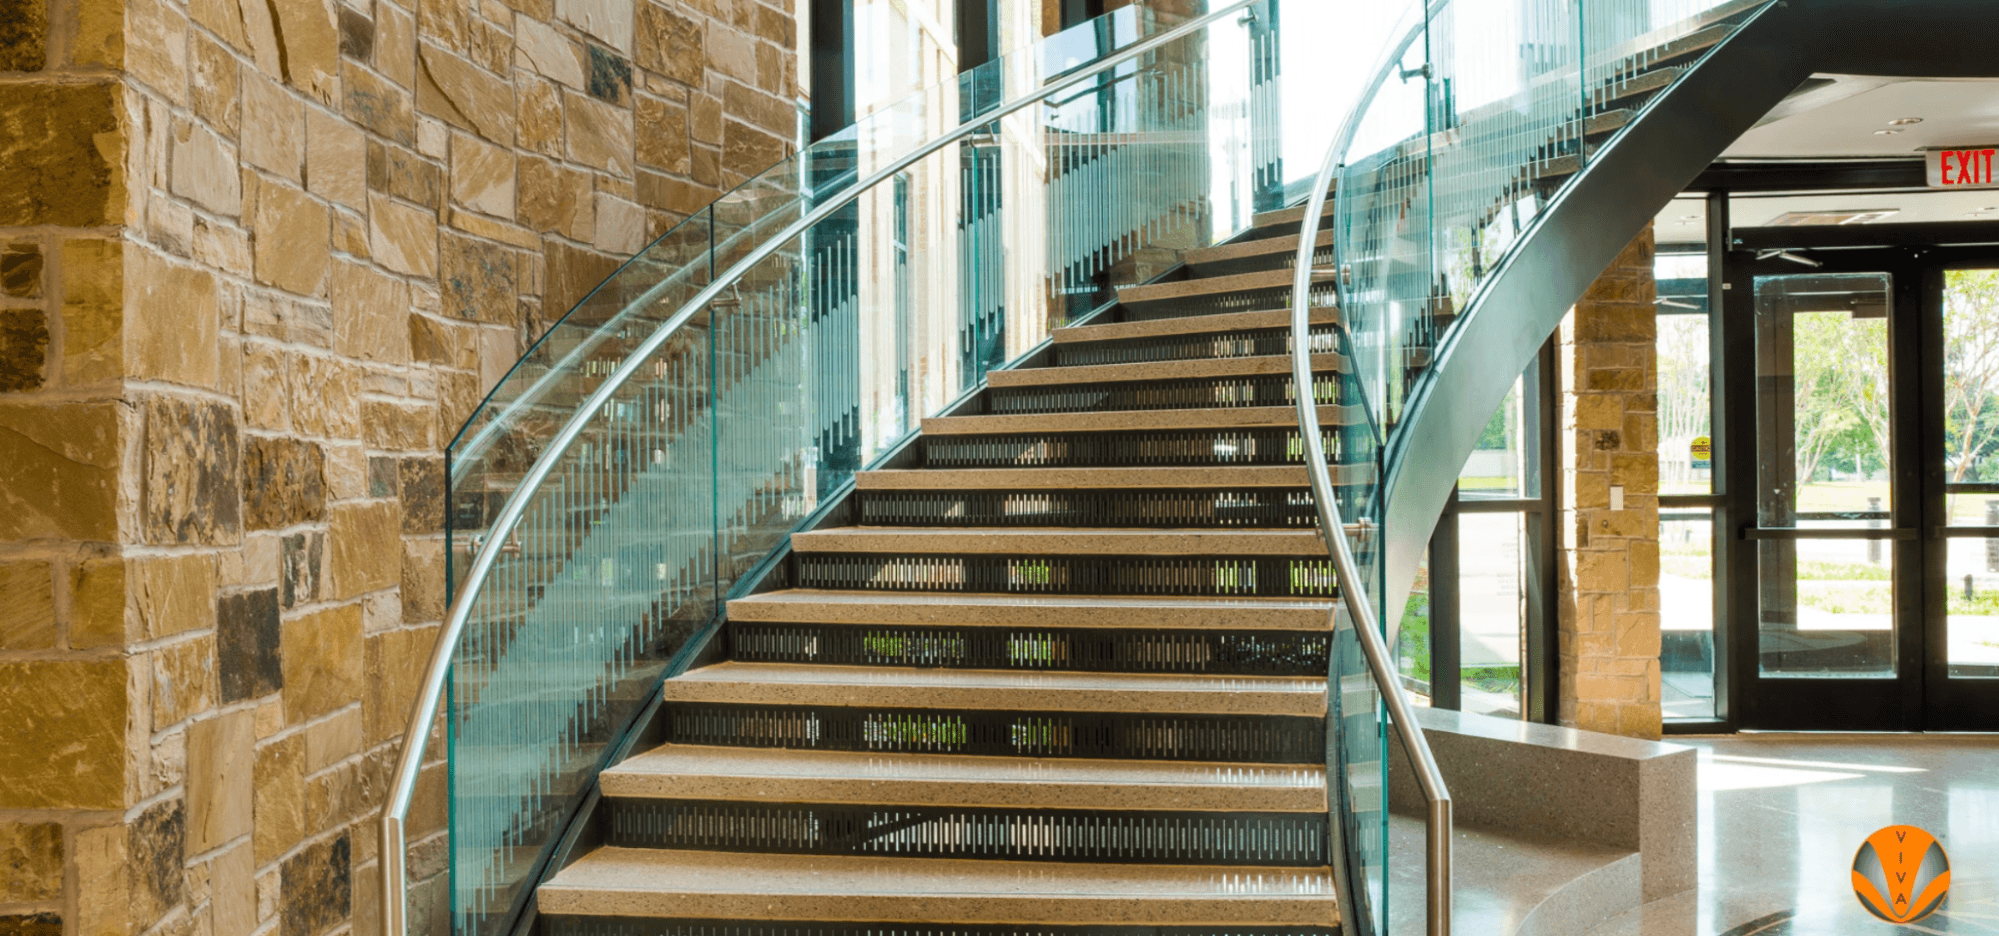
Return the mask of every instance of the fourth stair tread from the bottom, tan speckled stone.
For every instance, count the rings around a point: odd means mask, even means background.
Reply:
[[[784,589],[730,599],[732,621],[990,625],[990,627],[1259,627],[1325,631],[1331,599],[990,595]],[[1137,621],[1131,621],[1137,617]]]

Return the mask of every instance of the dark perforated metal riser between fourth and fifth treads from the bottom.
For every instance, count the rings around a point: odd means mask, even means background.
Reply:
[[[808,589],[1333,597],[1331,559],[794,553]]]

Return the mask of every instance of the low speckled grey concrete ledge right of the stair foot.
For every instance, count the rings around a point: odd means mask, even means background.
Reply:
[[[1645,901],[1695,885],[1691,747],[1427,707],[1417,721],[1455,823],[1637,851]],[[1389,809],[1423,809],[1399,733],[1389,739]]]

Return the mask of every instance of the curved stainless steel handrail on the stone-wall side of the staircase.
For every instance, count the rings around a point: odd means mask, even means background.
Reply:
[[[902,170],[918,164],[920,160],[928,158],[930,154],[936,154],[938,150],[944,150],[946,146],[958,140],[972,136],[980,128],[992,126],[1001,118],[1007,118],[1019,110],[1025,110],[1033,104],[1039,104],[1055,96],[1063,88],[1069,88],[1073,82],[1079,82],[1083,78],[1093,78],[1101,72],[1117,68],[1137,56],[1143,56],[1145,52],[1151,52],[1195,30],[1207,28],[1217,20],[1223,20],[1231,14],[1237,14],[1261,2],[1263,0],[1235,0],[1205,16],[1173,26],[1171,30],[1161,32],[1149,40],[1127,46],[1089,66],[1065,72],[1057,82],[1051,82],[1035,90],[1033,94],[1027,94],[1011,104],[994,108],[986,114],[980,114],[978,118],[960,124],[948,134],[938,136],[928,144],[916,148],[914,152],[906,154],[904,158],[884,166],[876,174],[858,182],[854,188],[834,196],[828,202],[822,202],[812,212],[806,212],[800,220],[792,222],[786,230],[778,232],[774,238],[766,240],[762,246],[752,250],[740,262],[736,262],[736,266],[728,268],[722,276],[710,282],[702,292],[694,294],[694,298],[688,300],[688,304],[682,306],[680,312],[676,312],[658,330],[654,330],[654,334],[646,338],[644,344],[632,350],[632,354],[626,356],[624,364],[620,364],[618,370],[612,372],[612,376],[606,378],[604,384],[598,386],[594,394],[590,394],[590,400],[586,400],[584,406],[576,410],[570,422],[562,428],[560,434],[556,434],[556,438],[544,450],[542,458],[536,460],[536,464],[528,469],[526,477],[522,477],[520,485],[514,489],[512,495],[508,495],[506,503],[500,507],[500,513],[490,527],[490,535],[486,537],[478,553],[472,557],[472,567],[466,569],[464,585],[460,585],[458,597],[452,601],[452,609],[444,619],[444,627],[438,631],[436,651],[430,657],[430,667],[424,671],[424,683],[418,689],[416,703],[410,711],[410,725],[408,729],[404,729],[402,757],[396,761],[394,785],[390,787],[388,803],[382,807],[382,931],[386,935],[402,937],[404,933],[408,933],[408,883],[404,881],[404,851],[406,851],[404,821],[410,815],[410,801],[416,795],[416,777],[424,765],[424,751],[430,745],[430,725],[438,719],[438,707],[442,705],[444,699],[444,677],[452,669],[452,651],[458,647],[458,641],[464,635],[466,619],[472,613],[472,603],[480,593],[480,585],[486,583],[486,575],[492,571],[494,561],[502,553],[502,541],[506,539],[506,533],[512,531],[516,523],[520,523],[522,513],[526,513],[528,509],[530,497],[534,497],[534,491],[540,489],[542,481],[548,479],[548,473],[554,471],[556,462],[562,458],[562,454],[570,450],[576,438],[582,436],[584,428],[598,418],[598,412],[602,412],[606,404],[610,404],[618,388],[622,388],[628,380],[632,380],[646,366],[652,354],[658,352],[660,346],[664,346],[666,340],[674,336],[674,332],[686,326],[688,320],[694,318],[694,314],[706,308],[714,298],[722,296],[722,292],[734,286],[738,280],[742,280],[744,274],[748,274],[766,258],[782,250],[800,234],[808,232],[812,226],[824,222],[834,212],[858,200],[862,192],[868,192],[874,186],[880,186],[882,182],[896,178],[896,174],[900,174]],[[1323,471],[1323,460],[1321,460],[1321,471]]]

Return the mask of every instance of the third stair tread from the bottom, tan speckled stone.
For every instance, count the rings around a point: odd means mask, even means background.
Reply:
[[[670,703],[1325,715],[1323,677],[1205,677],[1173,673],[722,661],[690,669],[666,681],[664,693]]]

